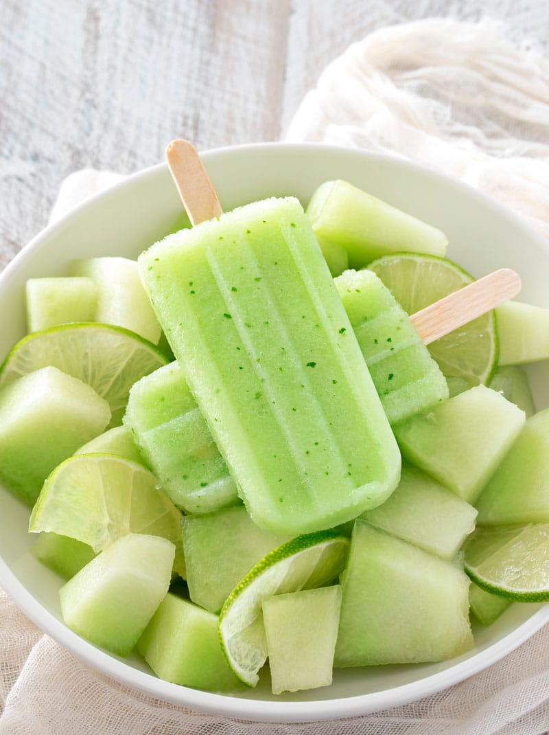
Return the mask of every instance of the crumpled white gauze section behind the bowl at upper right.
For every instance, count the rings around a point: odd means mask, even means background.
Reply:
[[[436,168],[549,237],[549,59],[502,31],[433,18],[374,32],[324,70],[286,137]]]

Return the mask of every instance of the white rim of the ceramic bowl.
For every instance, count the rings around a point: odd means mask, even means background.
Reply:
[[[363,151],[357,148],[349,148],[345,146],[327,146],[321,143],[250,143],[239,146],[224,146],[220,148],[211,148],[201,152],[201,157],[208,167],[208,162],[215,157],[238,157],[243,152],[258,152],[272,154],[274,151],[287,149],[288,151],[308,151],[308,154],[327,154],[331,153],[342,157],[362,158],[365,162],[390,162],[408,171],[420,173],[421,176],[428,176],[435,182],[440,181],[445,187],[454,187],[458,190],[465,190],[474,193],[476,198],[482,202],[484,207],[495,210],[496,213],[502,215],[516,226],[523,229],[528,234],[529,240],[536,241],[541,245],[542,249],[549,251],[549,242],[543,235],[537,232],[524,218],[517,215],[512,210],[499,204],[486,194],[476,190],[459,179],[453,179],[444,173],[426,168],[423,165],[404,159],[396,154],[380,153],[378,151]],[[81,204],[77,205],[70,212],[59,218],[58,221],[48,224],[43,230],[37,233],[32,240],[21,248],[21,251],[7,264],[2,273],[0,273],[0,289],[4,283],[9,281],[12,272],[17,271],[21,266],[30,259],[37,249],[43,246],[51,237],[55,237],[58,232],[71,223],[73,220],[81,217],[88,209],[101,206],[103,201],[110,198],[114,191],[123,190],[133,186],[139,187],[141,182],[153,176],[164,176],[167,173],[167,165],[159,163],[148,168],[142,169],[126,176],[120,182],[113,184],[106,190],[102,190],[95,195],[86,198]],[[162,681],[156,676],[137,670],[127,664],[123,659],[117,659],[105,651],[96,648],[78,635],[70,631],[63,623],[48,612],[48,610],[23,586],[18,580],[10,567],[4,562],[0,556],[0,584],[1,587],[10,595],[15,604],[22,610],[33,623],[35,623],[44,633],[55,639],[62,648],[65,648],[84,664],[91,665],[96,672],[108,675],[118,684],[132,686],[144,695],[167,701],[176,706],[184,706],[193,710],[208,712],[209,714],[218,714],[225,717],[232,717],[239,720],[250,722],[270,722],[270,723],[297,723],[297,722],[313,722],[321,720],[336,720],[343,717],[356,717],[358,715],[368,714],[374,711],[387,709],[410,703],[412,701],[424,698],[426,696],[440,692],[452,684],[464,681],[471,675],[480,673],[487,667],[490,667],[496,661],[506,656],[512,650],[515,650],[521,643],[534,635],[542,625],[549,621],[549,604],[538,609],[534,614],[517,626],[513,631],[493,643],[485,650],[474,653],[464,661],[458,661],[456,664],[448,668],[412,681],[407,684],[401,684],[390,689],[383,689],[378,692],[369,692],[363,695],[352,695],[348,698],[333,698],[327,700],[309,700],[288,702],[283,700],[255,700],[247,698],[239,698],[233,695],[217,694],[213,692],[205,692],[200,689],[192,689],[178,684],[171,684]],[[479,661],[480,659],[480,661]],[[120,666],[122,664],[122,666]]]

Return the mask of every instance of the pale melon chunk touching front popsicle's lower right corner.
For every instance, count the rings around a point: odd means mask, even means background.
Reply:
[[[371,526],[453,559],[474,531],[476,509],[425,473],[404,463],[393,495],[361,515]]]

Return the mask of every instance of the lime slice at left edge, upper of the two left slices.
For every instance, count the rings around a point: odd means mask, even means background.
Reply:
[[[155,345],[129,329],[98,322],[63,324],[23,337],[0,367],[0,387],[53,365],[105,398],[112,412],[109,426],[117,426],[131,386],[166,363]]]

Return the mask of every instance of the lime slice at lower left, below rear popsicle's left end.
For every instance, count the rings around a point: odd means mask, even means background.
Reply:
[[[183,576],[181,515],[145,467],[111,454],[81,454],[47,478],[29,531],[54,531],[96,552],[128,533],[161,536],[175,544],[174,569]]]

